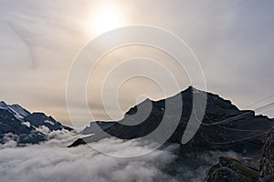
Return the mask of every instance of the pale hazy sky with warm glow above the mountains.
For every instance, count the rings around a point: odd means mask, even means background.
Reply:
[[[241,109],[274,101],[272,96],[249,106],[273,95],[274,2],[240,0],[0,0],[0,100],[18,103],[32,112],[46,112],[69,124],[69,67],[84,45],[115,23],[98,18],[112,10],[113,21],[117,21],[113,27],[159,26],[184,39],[200,61],[208,91],[232,100]],[[172,62],[171,57],[149,47],[121,48],[104,58],[93,78],[101,83],[100,74],[111,69],[110,60],[119,63],[136,56]],[[189,85],[176,66],[171,64],[170,68],[182,79],[182,89]],[[116,78],[112,79],[115,82]],[[89,105],[98,119],[107,119],[96,86],[88,87]],[[159,87],[138,78],[121,87],[121,109],[127,110],[143,94],[154,99],[163,96]],[[274,116],[273,107],[262,113]]]

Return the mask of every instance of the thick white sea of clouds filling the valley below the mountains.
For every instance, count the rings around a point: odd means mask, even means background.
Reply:
[[[203,155],[203,165],[190,168],[176,166],[178,175],[167,172],[176,159],[178,146],[153,150],[148,155],[133,158],[111,157],[90,147],[67,147],[77,135],[66,130],[49,133],[47,142],[27,147],[16,147],[9,141],[0,146],[0,177],[3,182],[151,182],[196,181],[205,169],[216,163],[216,154]],[[108,153],[134,154],[151,151],[138,140],[122,141],[117,138],[100,140],[97,145],[110,148]],[[202,163],[201,163],[202,164]]]

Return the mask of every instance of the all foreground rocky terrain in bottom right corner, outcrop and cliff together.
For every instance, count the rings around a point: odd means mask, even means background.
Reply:
[[[264,140],[259,168],[230,157],[220,157],[211,167],[202,182],[273,182],[274,181],[274,128]]]

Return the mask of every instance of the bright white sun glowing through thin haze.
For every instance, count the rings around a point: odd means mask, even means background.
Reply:
[[[102,5],[91,14],[90,29],[100,35],[122,25],[123,18],[117,8],[111,5]]]

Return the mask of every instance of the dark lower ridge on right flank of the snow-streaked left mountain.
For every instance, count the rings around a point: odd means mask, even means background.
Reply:
[[[62,126],[52,116],[46,116],[44,113],[33,113],[24,118],[25,122],[29,122],[32,126],[47,126],[50,131],[67,129],[73,130],[68,126]]]

